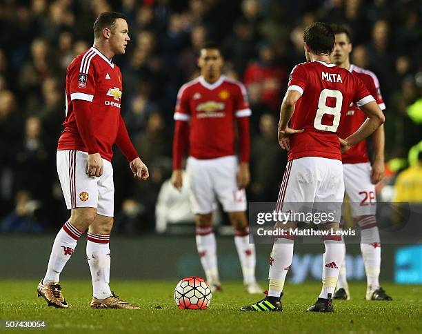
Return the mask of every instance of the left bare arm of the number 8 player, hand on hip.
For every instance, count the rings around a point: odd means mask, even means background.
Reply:
[[[280,109],[280,122],[279,122],[279,144],[283,150],[290,150],[290,137],[294,133],[303,132],[301,130],[294,130],[288,127],[289,121],[294,112],[294,104],[301,97],[301,93],[297,90],[288,90],[285,94]]]

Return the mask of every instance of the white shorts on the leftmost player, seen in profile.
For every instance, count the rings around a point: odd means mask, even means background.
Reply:
[[[97,208],[97,213],[113,217],[114,184],[110,161],[103,159],[103,175],[86,174],[88,153],[80,150],[57,151],[57,173],[66,206],[72,208]]]

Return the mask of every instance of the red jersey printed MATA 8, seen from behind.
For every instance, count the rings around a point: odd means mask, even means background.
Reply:
[[[348,70],[323,61],[294,66],[288,90],[297,90],[291,128],[304,129],[292,136],[288,159],[325,157],[341,160],[337,128],[352,101],[358,106],[374,98],[362,81]]]

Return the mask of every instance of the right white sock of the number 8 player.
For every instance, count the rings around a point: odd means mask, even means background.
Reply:
[[[343,242],[340,240],[325,240],[325,253],[323,255],[323,286],[319,298],[328,298],[328,294],[334,295],[337,279],[339,278],[340,266],[343,264]]]

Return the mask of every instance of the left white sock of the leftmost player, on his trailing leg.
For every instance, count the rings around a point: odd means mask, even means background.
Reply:
[[[70,259],[70,256],[72,256],[81,235],[82,232],[70,224],[70,222],[66,222],[59,230],[56,239],[54,239],[43,284],[47,282],[59,282],[60,273],[66,262]]]

